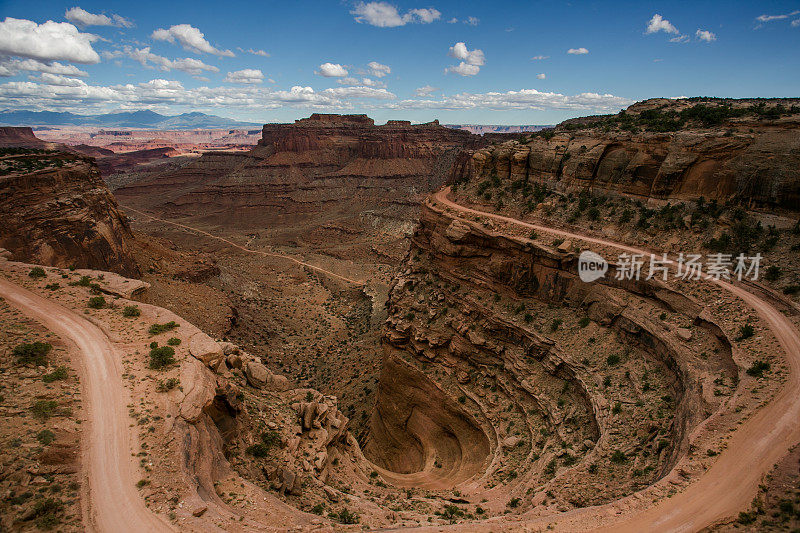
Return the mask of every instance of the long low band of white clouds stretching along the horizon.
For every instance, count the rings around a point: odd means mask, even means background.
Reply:
[[[186,88],[180,82],[154,79],[145,83],[97,86],[68,77],[46,77],[47,83],[7,82],[0,84],[0,108],[50,109],[74,112],[108,112],[119,109],[159,107],[181,109],[264,110],[298,109],[356,110],[543,110],[568,109],[581,113],[615,112],[633,103],[613,94],[584,92],[575,95],[520,89],[507,92],[459,93],[432,96],[437,89],[420,87],[417,97],[398,101],[383,88],[366,86],[314,90],[294,86],[276,91],[260,85]]]

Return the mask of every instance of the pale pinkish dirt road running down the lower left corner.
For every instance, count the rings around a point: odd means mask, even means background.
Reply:
[[[83,468],[89,479],[87,528],[109,532],[173,531],[144,504],[131,463],[127,389],[120,354],[105,333],[84,317],[0,278],[0,296],[82,354],[81,390],[89,418]]]

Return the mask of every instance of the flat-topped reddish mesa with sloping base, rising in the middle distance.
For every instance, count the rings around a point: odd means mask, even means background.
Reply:
[[[449,177],[456,156],[483,141],[438,123],[375,126],[366,115],[266,124],[247,154],[205,154],[177,172],[116,191],[181,215],[249,224],[286,214],[414,204]]]

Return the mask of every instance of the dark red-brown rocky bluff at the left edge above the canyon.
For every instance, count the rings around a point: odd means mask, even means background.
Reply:
[[[17,260],[139,274],[127,219],[93,159],[25,150],[4,155],[0,217],[0,246]]]

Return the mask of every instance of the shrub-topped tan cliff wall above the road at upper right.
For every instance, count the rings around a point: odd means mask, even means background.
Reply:
[[[648,101],[620,115],[567,121],[477,151],[454,179],[800,209],[800,108],[726,102]]]

